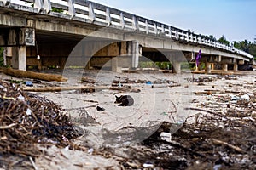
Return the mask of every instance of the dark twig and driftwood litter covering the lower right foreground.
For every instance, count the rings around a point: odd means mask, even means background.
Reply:
[[[198,110],[199,111],[199,110]],[[126,169],[255,169],[255,116],[225,116],[202,111],[191,116],[194,123],[185,122],[171,139],[163,137],[172,124],[164,122],[159,130],[133,147],[133,155],[123,162]]]

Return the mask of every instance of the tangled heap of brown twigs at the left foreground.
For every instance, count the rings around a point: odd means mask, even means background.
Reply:
[[[39,156],[37,144],[65,147],[79,135],[59,105],[0,80],[0,167],[12,164],[5,156]]]

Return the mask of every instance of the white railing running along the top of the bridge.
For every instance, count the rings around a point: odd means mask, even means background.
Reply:
[[[100,26],[112,26],[121,30],[138,31],[145,34],[169,37],[180,42],[195,43],[211,48],[218,48],[231,53],[241,54],[249,59],[253,55],[247,54],[232,46],[214,41],[207,36],[184,31],[173,26],[168,26],[154,20],[148,20],[135,14],[126,13],[115,8],[110,8],[99,3],[87,0],[1,0],[5,6],[20,4],[33,8],[39,14],[55,14],[55,9],[61,9],[61,14],[55,16],[79,20]],[[36,9],[36,10],[34,10]]]

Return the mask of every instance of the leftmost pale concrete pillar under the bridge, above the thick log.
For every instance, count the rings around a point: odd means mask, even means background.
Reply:
[[[12,66],[14,69],[26,71],[26,46],[12,48]]]

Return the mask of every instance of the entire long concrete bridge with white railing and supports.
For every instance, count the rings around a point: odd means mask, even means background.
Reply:
[[[195,62],[200,49],[207,73],[214,64],[236,71],[253,62],[252,55],[201,34],[86,0],[0,0],[0,46],[20,70],[109,65],[119,71],[137,68],[146,57],[170,61],[178,73],[182,62]]]

